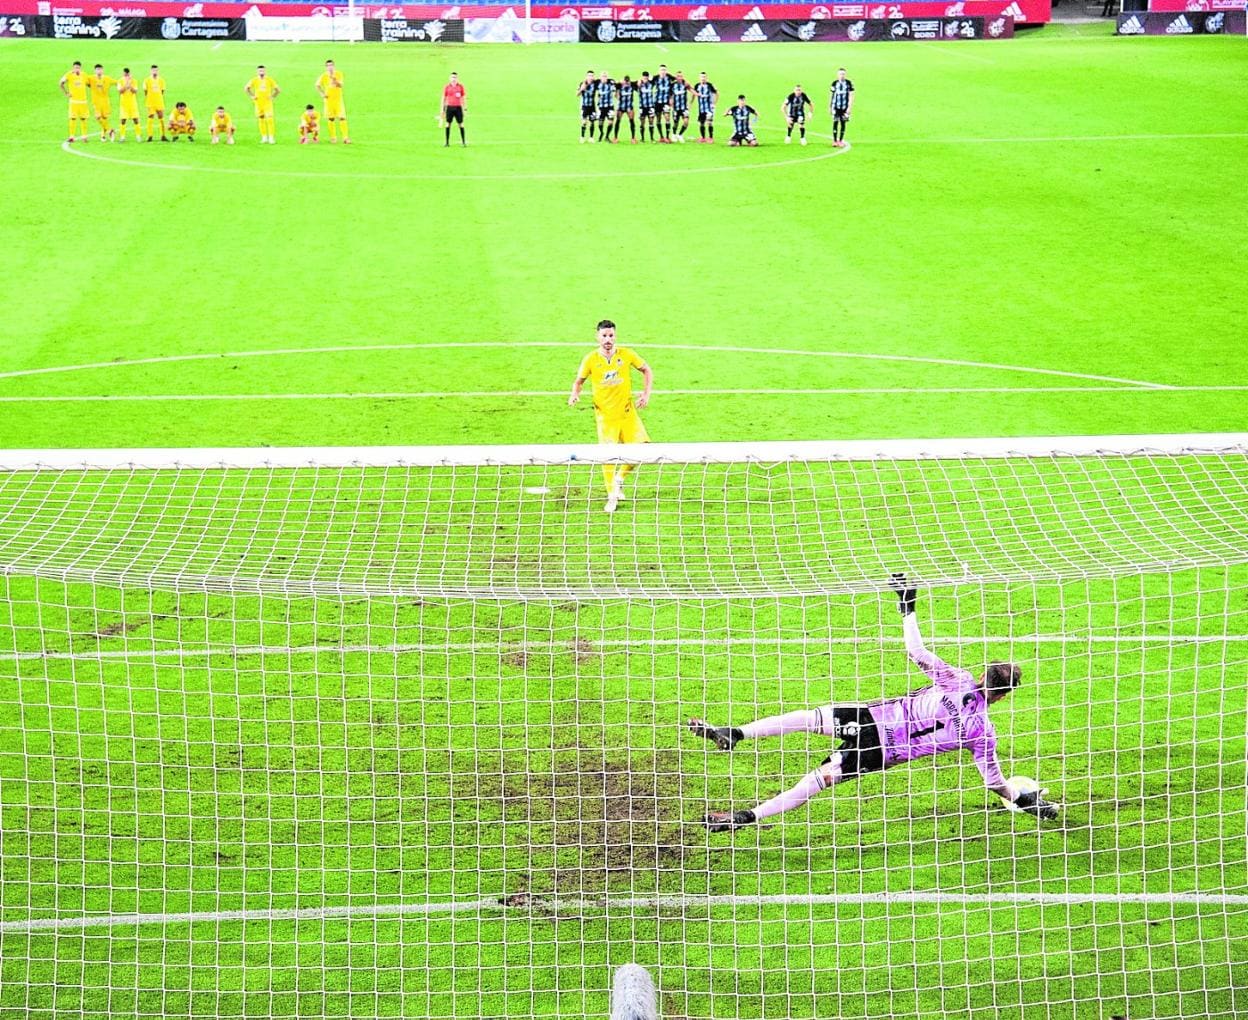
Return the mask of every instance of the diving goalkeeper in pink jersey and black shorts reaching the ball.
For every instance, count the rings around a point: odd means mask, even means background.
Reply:
[[[890,584],[900,603],[906,652],[931,684],[901,698],[869,705],[789,712],[744,727],[713,727],[701,719],[690,719],[690,732],[720,750],[731,750],[741,740],[785,733],[821,733],[840,740],[840,747],[792,789],[754,808],[708,814],[706,828],[713,833],[753,825],[759,819],[801,807],[837,783],[957,750],[971,752],[985,785],[1007,804],[1048,821],[1057,818],[1057,805],[1045,800],[1043,792],[1012,790],[997,763],[997,734],[988,720],[988,705],[1018,685],[1022,670],[1013,663],[991,663],[976,679],[967,670],[941,660],[924,647],[919,633],[915,615],[919,592],[906,584],[905,574],[894,574]]]

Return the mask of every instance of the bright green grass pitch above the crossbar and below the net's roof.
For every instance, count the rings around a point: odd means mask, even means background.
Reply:
[[[655,368],[655,439],[1241,429],[1244,45],[5,40],[0,447],[588,441],[563,393],[603,316]],[[349,149],[295,144],[326,56]],[[74,59],[158,62],[201,126],[228,105],[238,144],[65,151]],[[285,89],[276,146],[242,95],[258,62]],[[728,150],[726,121],[714,147],[579,145],[584,70],[659,62],[746,92],[763,145]],[[824,117],[782,145],[784,94],[821,100],[841,64],[852,147]],[[433,122],[451,70],[463,150]],[[661,524],[650,478],[638,534]],[[879,596],[469,604],[7,572],[0,1018],[595,1016],[634,959],[668,1018],[1248,1015],[1243,569],[927,599],[968,667],[1041,635],[1011,649],[1037,680],[997,725],[1015,770],[1060,777],[1058,830],[942,762],[715,839],[688,820],[825,750],[708,754],[680,718],[824,703],[829,677],[899,693]],[[1233,640],[1183,639],[1206,628]],[[1133,640],[1157,633],[1178,637]],[[885,898],[951,886],[1072,901]],[[1176,899],[1087,899],[1158,889]],[[21,928],[232,910],[313,915]]]

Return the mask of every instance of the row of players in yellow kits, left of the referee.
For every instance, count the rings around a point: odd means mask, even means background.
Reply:
[[[120,106],[120,132],[111,122],[111,92],[114,89],[117,90]],[[195,115],[185,102],[175,102],[172,110],[166,110],[165,89],[165,79],[155,64],[152,64],[150,74],[140,81],[130,74],[129,67],[122,69],[121,77],[106,75],[102,64],[96,64],[94,72],[87,75],[82,71],[82,62],[75,60],[74,66],[61,77],[61,91],[70,101],[69,141],[87,141],[87,122],[92,116],[100,125],[100,141],[125,141],[126,130],[130,126],[134,127],[135,141],[155,141],[157,129],[161,141],[178,141],[183,137],[187,141],[195,141]],[[332,60],[324,62],[324,72],[316,80],[316,90],[324,102],[324,120],[328,125],[331,144],[338,141],[339,136],[344,144],[349,144],[347,105],[342,97],[342,71],[334,69]],[[142,134],[139,115],[140,91],[144,95],[144,112],[147,120],[146,137]],[[247,82],[245,91],[256,109],[261,144],[273,145],[277,141],[273,100],[281,95],[282,90],[270,77],[265,65],[260,65],[255,77]],[[167,119],[166,112],[168,114]],[[213,145],[222,140],[226,145],[233,145],[235,122],[225,106],[218,106],[212,111],[208,120],[208,134],[212,136]],[[321,115],[310,102],[300,116],[300,144],[310,145],[319,140]]]

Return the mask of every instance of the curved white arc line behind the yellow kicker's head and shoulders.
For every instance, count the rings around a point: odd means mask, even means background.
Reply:
[[[812,358],[842,358],[846,361],[889,361],[901,365],[940,365],[952,368],[986,368],[1000,372],[1021,372],[1031,376],[1052,376],[1055,378],[1085,380],[1087,382],[1113,383],[1121,388],[1137,387],[1143,390],[1177,390],[1163,382],[1148,382],[1146,380],[1119,378],[1117,376],[1098,376],[1090,372],[1070,372],[1060,368],[1033,368],[1023,365],[998,365],[991,361],[966,361],[965,358],[930,358],[917,355],[867,355],[851,351],[802,351],[790,347],[736,347],[731,345],[705,345],[705,343],[650,343],[645,345],[648,351],[681,351],[693,353],[711,355],[765,355],[769,357],[812,357]],[[162,355],[150,358],[121,358],[117,361],[97,361],[85,365],[54,365],[44,368],[19,368],[11,372],[0,372],[0,381],[26,378],[29,376],[50,376],[61,372],[87,372],[104,368],[131,368],[142,365],[175,365],[188,361],[216,361],[217,358],[262,358],[262,357],[295,357],[298,355],[358,355],[373,351],[458,351],[458,350],[518,350],[518,348],[558,348],[585,351],[590,342],[569,341],[517,341],[514,343],[502,343],[497,341],[444,341],[434,343],[361,343],[361,345],[334,345],[329,347],[277,347],[267,351],[215,351],[203,355]]]

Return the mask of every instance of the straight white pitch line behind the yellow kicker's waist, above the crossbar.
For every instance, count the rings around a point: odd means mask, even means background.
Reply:
[[[867,397],[935,396],[968,393],[1208,393],[1248,392],[1248,386],[934,386],[860,387],[842,390],[655,390],[658,397]],[[66,397],[0,397],[0,403],[125,403],[161,401],[419,401],[419,400],[523,400],[565,397],[564,390],[468,390],[396,393],[134,393]]]

